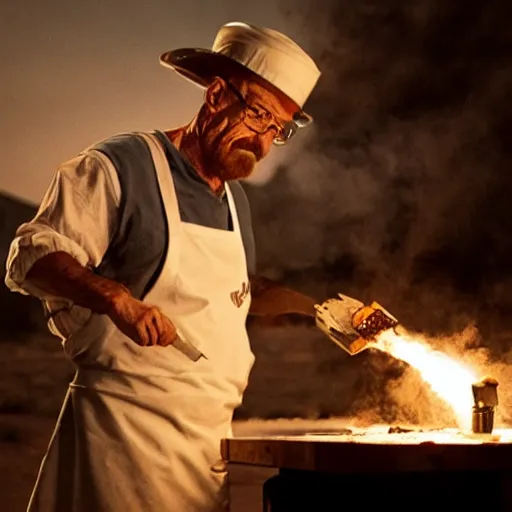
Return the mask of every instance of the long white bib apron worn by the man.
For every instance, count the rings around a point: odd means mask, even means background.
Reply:
[[[169,252],[144,299],[205,356],[140,347],[93,314],[63,342],[78,370],[43,460],[30,512],[210,512],[228,509],[220,441],[231,433],[254,356],[250,303],[233,197],[233,231],[181,222],[171,172],[150,145]]]

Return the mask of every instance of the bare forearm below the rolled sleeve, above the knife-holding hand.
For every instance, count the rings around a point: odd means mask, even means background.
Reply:
[[[99,314],[107,313],[116,298],[129,293],[122,284],[96,275],[65,252],[51,253],[36,261],[26,280],[46,293]]]

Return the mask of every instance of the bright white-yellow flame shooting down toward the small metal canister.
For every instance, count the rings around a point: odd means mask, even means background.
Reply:
[[[418,370],[434,393],[452,407],[458,426],[463,429],[471,427],[471,385],[478,376],[470,367],[411,336],[397,334],[393,329],[379,334],[372,346]]]

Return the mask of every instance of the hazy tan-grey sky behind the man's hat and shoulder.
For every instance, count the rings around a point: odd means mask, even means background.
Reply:
[[[293,37],[274,1],[20,0],[0,13],[0,190],[31,202],[90,144],[194,115],[201,89],[160,66],[161,53],[210,48],[229,21]]]

